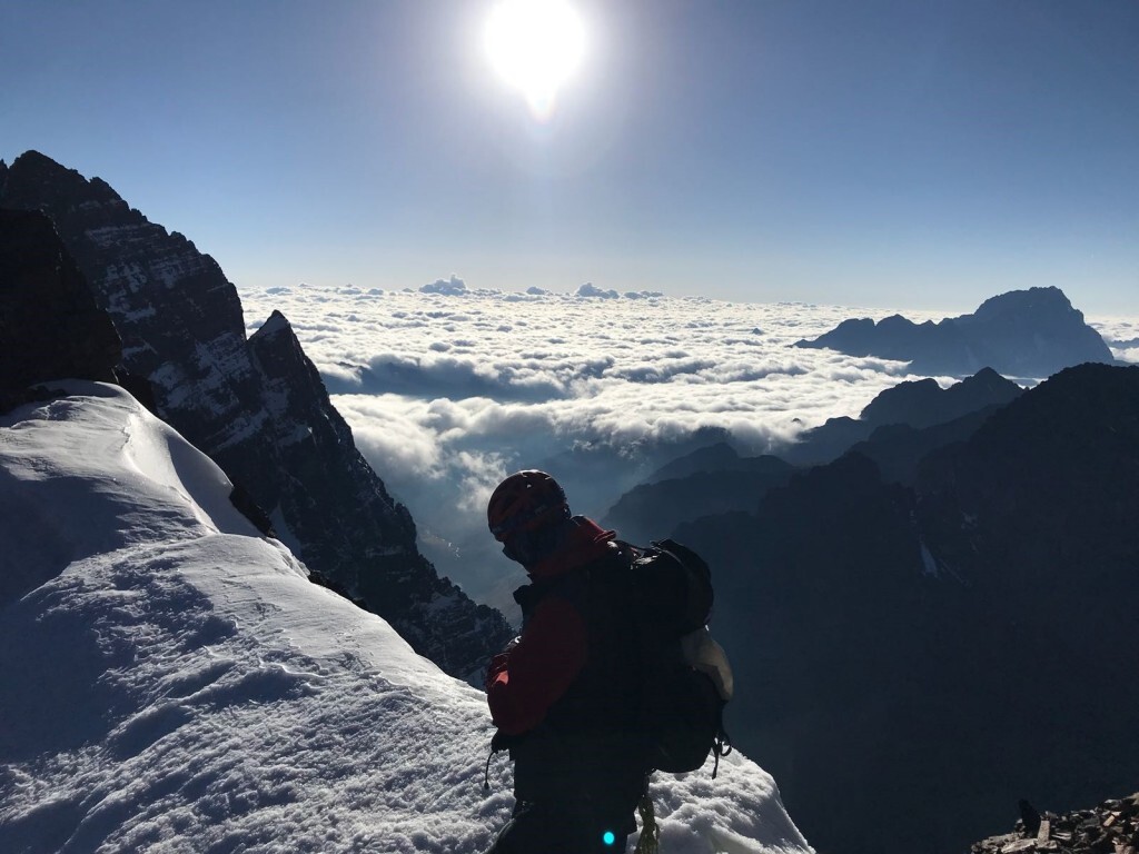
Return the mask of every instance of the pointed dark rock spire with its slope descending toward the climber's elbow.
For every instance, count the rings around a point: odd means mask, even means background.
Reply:
[[[487,643],[505,642],[502,616],[475,606],[413,550],[410,514],[357,450],[285,317],[273,312],[249,348],[281,465],[276,478],[260,482],[260,501],[280,509],[305,560],[327,580],[364,603],[383,602],[392,626],[417,649],[433,650],[443,670],[478,672],[494,651]],[[295,488],[294,479],[304,488]],[[402,548],[393,550],[393,543]]]

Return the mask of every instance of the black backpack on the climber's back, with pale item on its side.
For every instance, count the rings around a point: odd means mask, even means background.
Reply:
[[[673,540],[631,552],[630,609],[642,668],[641,722],[649,740],[649,767],[696,771],[710,753],[731,752],[723,708],[731,697],[731,671],[707,633],[712,573],[691,549]]]

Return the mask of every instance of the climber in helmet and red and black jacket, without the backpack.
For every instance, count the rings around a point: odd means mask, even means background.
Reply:
[[[543,471],[507,477],[486,515],[530,576],[515,592],[522,635],[486,675],[492,749],[510,752],[516,800],[487,854],[624,852],[650,771],[634,630],[608,594],[630,558]]]

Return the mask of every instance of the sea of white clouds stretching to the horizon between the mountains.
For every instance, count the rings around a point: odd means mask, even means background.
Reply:
[[[857,417],[912,378],[902,362],[795,342],[852,317],[936,321],[976,307],[729,303],[591,284],[519,294],[454,276],[418,290],[298,285],[240,295],[251,332],[274,309],[289,319],[360,451],[410,509],[425,555],[508,614],[521,570],[494,553],[483,516],[505,475],[547,468],[575,511],[600,518],[700,444],[727,438],[745,455],[778,453],[803,429]],[[1091,322],[1116,358],[1139,361],[1139,321]]]

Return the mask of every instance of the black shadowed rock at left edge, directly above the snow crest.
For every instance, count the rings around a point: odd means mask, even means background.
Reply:
[[[44,380],[114,383],[121,355],[110,318],[96,305],[51,220],[0,210],[0,412]]]

